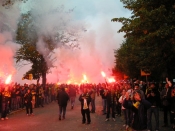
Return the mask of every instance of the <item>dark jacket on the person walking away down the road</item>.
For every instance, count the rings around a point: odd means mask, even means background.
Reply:
[[[69,95],[64,89],[58,91],[57,100],[59,106],[67,106],[67,102],[69,101]]]

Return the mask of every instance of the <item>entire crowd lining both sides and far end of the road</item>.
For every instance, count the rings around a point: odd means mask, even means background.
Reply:
[[[26,115],[33,115],[33,108],[44,107],[52,101],[58,102],[59,120],[62,120],[65,119],[68,101],[71,109],[74,109],[77,95],[81,105],[82,124],[91,123],[90,114],[96,112],[95,99],[99,96],[106,122],[110,117],[116,121],[116,116],[123,116],[126,130],[130,127],[133,131],[153,131],[154,114],[155,131],[159,131],[159,112],[162,110],[162,127],[171,124],[175,130],[175,86],[168,79],[164,85],[139,80],[111,84],[47,84],[45,88],[40,84],[1,85],[1,120],[8,119],[7,115],[11,111],[24,108]]]

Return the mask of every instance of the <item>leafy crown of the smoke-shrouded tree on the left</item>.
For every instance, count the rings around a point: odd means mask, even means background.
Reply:
[[[36,43],[39,36],[36,32],[36,27],[33,25],[33,19],[30,12],[23,14],[20,22],[18,23],[18,30],[16,33],[16,41],[21,44],[20,49],[16,52],[16,63],[21,61],[28,61],[32,63],[31,69],[24,74],[33,74],[33,79],[40,79],[42,73],[47,73],[52,66],[53,59],[50,58],[50,54],[55,48],[54,42],[50,36],[43,36],[43,42],[45,42],[45,53],[41,54],[37,50]],[[46,59],[50,60],[51,65],[47,65]]]

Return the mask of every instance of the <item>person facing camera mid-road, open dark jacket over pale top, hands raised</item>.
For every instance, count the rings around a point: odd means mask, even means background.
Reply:
[[[79,101],[81,102],[81,114],[82,114],[82,124],[91,123],[89,104],[91,102],[91,97],[86,88],[83,89],[83,93],[79,96]]]

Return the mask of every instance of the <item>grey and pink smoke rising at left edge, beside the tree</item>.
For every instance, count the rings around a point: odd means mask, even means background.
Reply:
[[[9,9],[1,7],[0,16],[0,82],[4,82],[9,74],[16,72],[14,55],[19,45],[15,43],[14,38],[20,16],[18,3]]]

